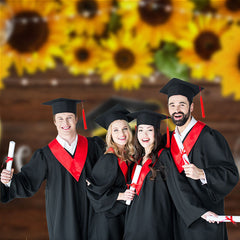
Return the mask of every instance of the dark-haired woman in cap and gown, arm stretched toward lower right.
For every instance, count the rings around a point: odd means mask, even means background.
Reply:
[[[135,167],[141,165],[142,168],[133,185],[136,195],[126,211],[124,239],[177,240],[181,229],[176,221],[176,211],[187,227],[200,218],[214,222],[207,216],[217,215],[202,207],[191,186],[183,181],[182,175],[176,174],[171,153],[164,148],[160,122],[168,117],[151,111],[139,111],[129,116],[137,119],[134,158],[137,161]]]

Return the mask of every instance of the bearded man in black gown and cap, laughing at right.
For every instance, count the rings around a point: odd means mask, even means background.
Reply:
[[[225,138],[216,130],[197,121],[192,112],[193,97],[203,88],[180,79],[171,79],[161,90],[168,95],[168,111],[176,124],[171,135],[170,151],[173,161],[168,171],[174,172],[175,187],[179,181],[188,182],[193,189],[188,198],[181,198],[191,205],[201,205],[203,208],[224,215],[224,198],[237,184],[239,175],[230,148]],[[184,148],[174,137],[178,133]],[[184,163],[183,155],[188,155],[189,163]],[[170,174],[169,174],[170,175]],[[184,189],[182,189],[184,191]],[[195,194],[195,196],[192,196]],[[196,197],[197,201],[196,202]],[[193,200],[194,199],[194,200]],[[178,211],[179,213],[181,210]],[[202,218],[187,226],[183,214],[177,213],[175,235],[178,240],[226,240],[225,223],[209,224]]]

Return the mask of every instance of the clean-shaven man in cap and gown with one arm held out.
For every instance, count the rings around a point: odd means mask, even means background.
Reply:
[[[87,240],[91,209],[86,178],[103,154],[100,138],[86,138],[76,131],[76,104],[81,100],[55,99],[51,105],[58,135],[38,149],[21,172],[1,173],[1,201],[33,196],[46,180],[46,216],[49,239]]]

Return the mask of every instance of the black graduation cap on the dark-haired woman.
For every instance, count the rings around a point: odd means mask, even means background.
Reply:
[[[168,116],[160,113],[156,113],[150,110],[141,110],[138,112],[129,113],[128,116],[137,119],[137,126],[140,124],[152,125],[156,128],[160,128],[160,122],[169,118]]]

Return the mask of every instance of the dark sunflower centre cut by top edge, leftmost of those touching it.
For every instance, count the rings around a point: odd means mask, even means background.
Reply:
[[[77,2],[77,12],[87,18],[93,18],[97,14],[98,4],[95,0],[81,0]]]

